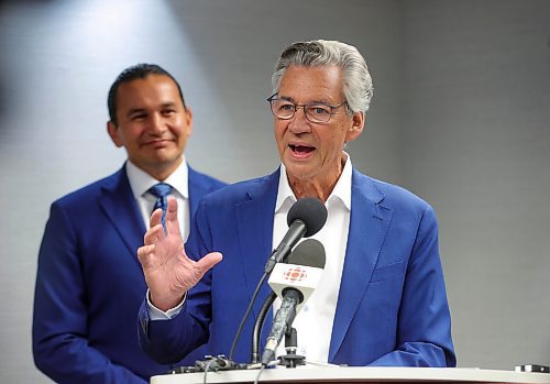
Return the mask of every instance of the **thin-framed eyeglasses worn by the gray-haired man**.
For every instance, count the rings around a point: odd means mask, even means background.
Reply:
[[[334,109],[342,107],[346,103],[343,101],[338,106],[329,106],[320,102],[308,103],[308,105],[297,105],[289,100],[279,99],[278,95],[275,94],[271,96],[267,101],[272,108],[272,113],[279,119],[289,120],[294,117],[299,108],[304,108],[304,113],[306,118],[316,123],[328,122],[332,114],[334,114]]]

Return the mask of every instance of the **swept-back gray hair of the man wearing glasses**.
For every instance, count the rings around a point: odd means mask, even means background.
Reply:
[[[344,75],[343,92],[351,112],[366,112],[373,97],[373,80],[358,48],[337,41],[297,42],[283,51],[272,75],[273,92],[290,65],[323,67],[337,65]]]

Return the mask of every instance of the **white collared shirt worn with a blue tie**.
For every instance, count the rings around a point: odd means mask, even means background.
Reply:
[[[130,182],[132,194],[134,195],[140,213],[145,223],[145,229],[148,229],[151,213],[155,206],[156,197],[147,193],[148,188],[160,183],[156,178],[135,166],[131,161],[127,162],[127,175]],[[190,208],[189,208],[189,187],[188,187],[188,169],[185,157],[182,164],[165,179],[163,183],[172,186],[172,191],[168,196],[174,196],[177,200],[177,219],[182,237],[187,240],[189,235]]]

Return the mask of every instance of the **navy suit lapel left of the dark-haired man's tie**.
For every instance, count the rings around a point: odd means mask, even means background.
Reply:
[[[125,166],[103,186],[100,205],[133,260],[140,265],[136,254],[138,248],[143,245],[145,224],[133,197]]]

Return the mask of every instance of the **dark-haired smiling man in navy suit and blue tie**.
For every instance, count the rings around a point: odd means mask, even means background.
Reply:
[[[166,70],[127,68],[109,90],[108,108],[108,133],[128,161],[52,205],[38,254],[34,361],[58,383],[144,384],[169,369],[148,359],[135,338],[146,292],[136,250],[151,211],[166,208],[168,196],[183,208],[186,239],[199,200],[224,186],[187,165],[191,110]]]

